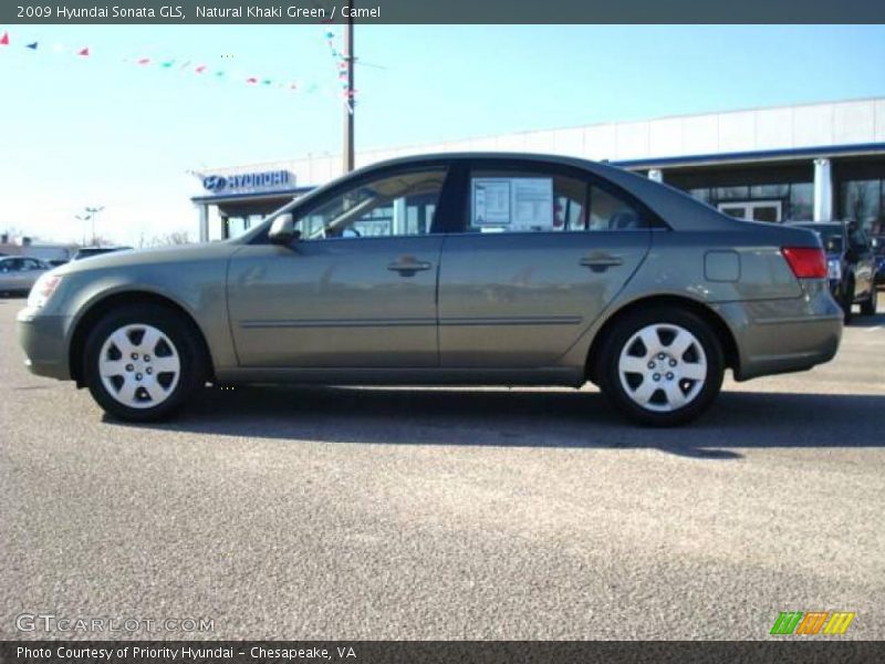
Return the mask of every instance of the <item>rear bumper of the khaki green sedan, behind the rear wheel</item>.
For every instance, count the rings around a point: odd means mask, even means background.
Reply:
[[[842,339],[842,309],[825,281],[803,288],[802,298],[722,305],[738,342],[736,380],[806,371],[835,356]]]

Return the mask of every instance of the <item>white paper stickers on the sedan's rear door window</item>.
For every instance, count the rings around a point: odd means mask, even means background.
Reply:
[[[471,226],[510,231],[553,229],[552,178],[475,178],[472,200]]]

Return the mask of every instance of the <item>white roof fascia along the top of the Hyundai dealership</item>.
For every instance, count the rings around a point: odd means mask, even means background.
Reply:
[[[464,138],[356,153],[356,166],[448,152],[551,153],[595,160],[654,162],[696,155],[778,152],[885,143],[885,97],[676,115]],[[298,184],[319,185],[341,174],[337,154],[209,169],[231,175],[289,170]]]

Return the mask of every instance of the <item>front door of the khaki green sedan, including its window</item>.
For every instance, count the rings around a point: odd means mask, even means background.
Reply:
[[[439,363],[435,217],[447,164],[356,176],[293,209],[300,238],[230,261],[241,366],[427,367]]]

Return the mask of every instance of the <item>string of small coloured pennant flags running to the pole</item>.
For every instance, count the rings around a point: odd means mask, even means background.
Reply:
[[[341,96],[343,97],[344,102],[348,104],[352,111],[352,104],[354,103],[353,94],[347,91],[347,82],[346,82],[346,59],[341,54],[340,49],[335,45],[335,35],[331,31],[325,32],[326,40],[330,44],[330,49],[332,50],[333,56],[340,61],[339,71],[343,71],[343,92]],[[11,35],[9,31],[3,31],[2,35],[0,35],[0,53],[2,53],[3,48],[15,48],[15,46],[23,46],[24,49],[29,49],[31,51],[39,51],[41,49],[40,41],[28,41],[21,40],[19,42],[14,35]],[[52,50],[55,52],[67,52],[72,55],[81,59],[92,58],[93,53],[91,46],[79,46],[75,49],[66,48],[62,44],[53,44]],[[278,89],[284,90],[290,93],[306,93],[306,94],[314,94],[327,87],[321,86],[316,83],[304,84],[299,81],[293,80],[280,80],[273,76],[260,76],[260,75],[242,75],[236,72],[231,72],[228,69],[217,65],[211,65],[208,62],[200,62],[194,60],[186,60],[186,59],[177,59],[177,58],[154,58],[149,55],[139,55],[135,58],[124,58],[122,60],[124,63],[133,64],[137,68],[158,68],[163,70],[177,70],[179,72],[190,73],[195,76],[204,76],[204,77],[212,77],[219,81],[232,81],[236,83],[241,83],[250,87],[269,87],[269,89]],[[343,66],[342,66],[343,65]],[[339,79],[341,80],[342,76],[340,75]],[[335,93],[335,96],[339,96],[339,93]]]

